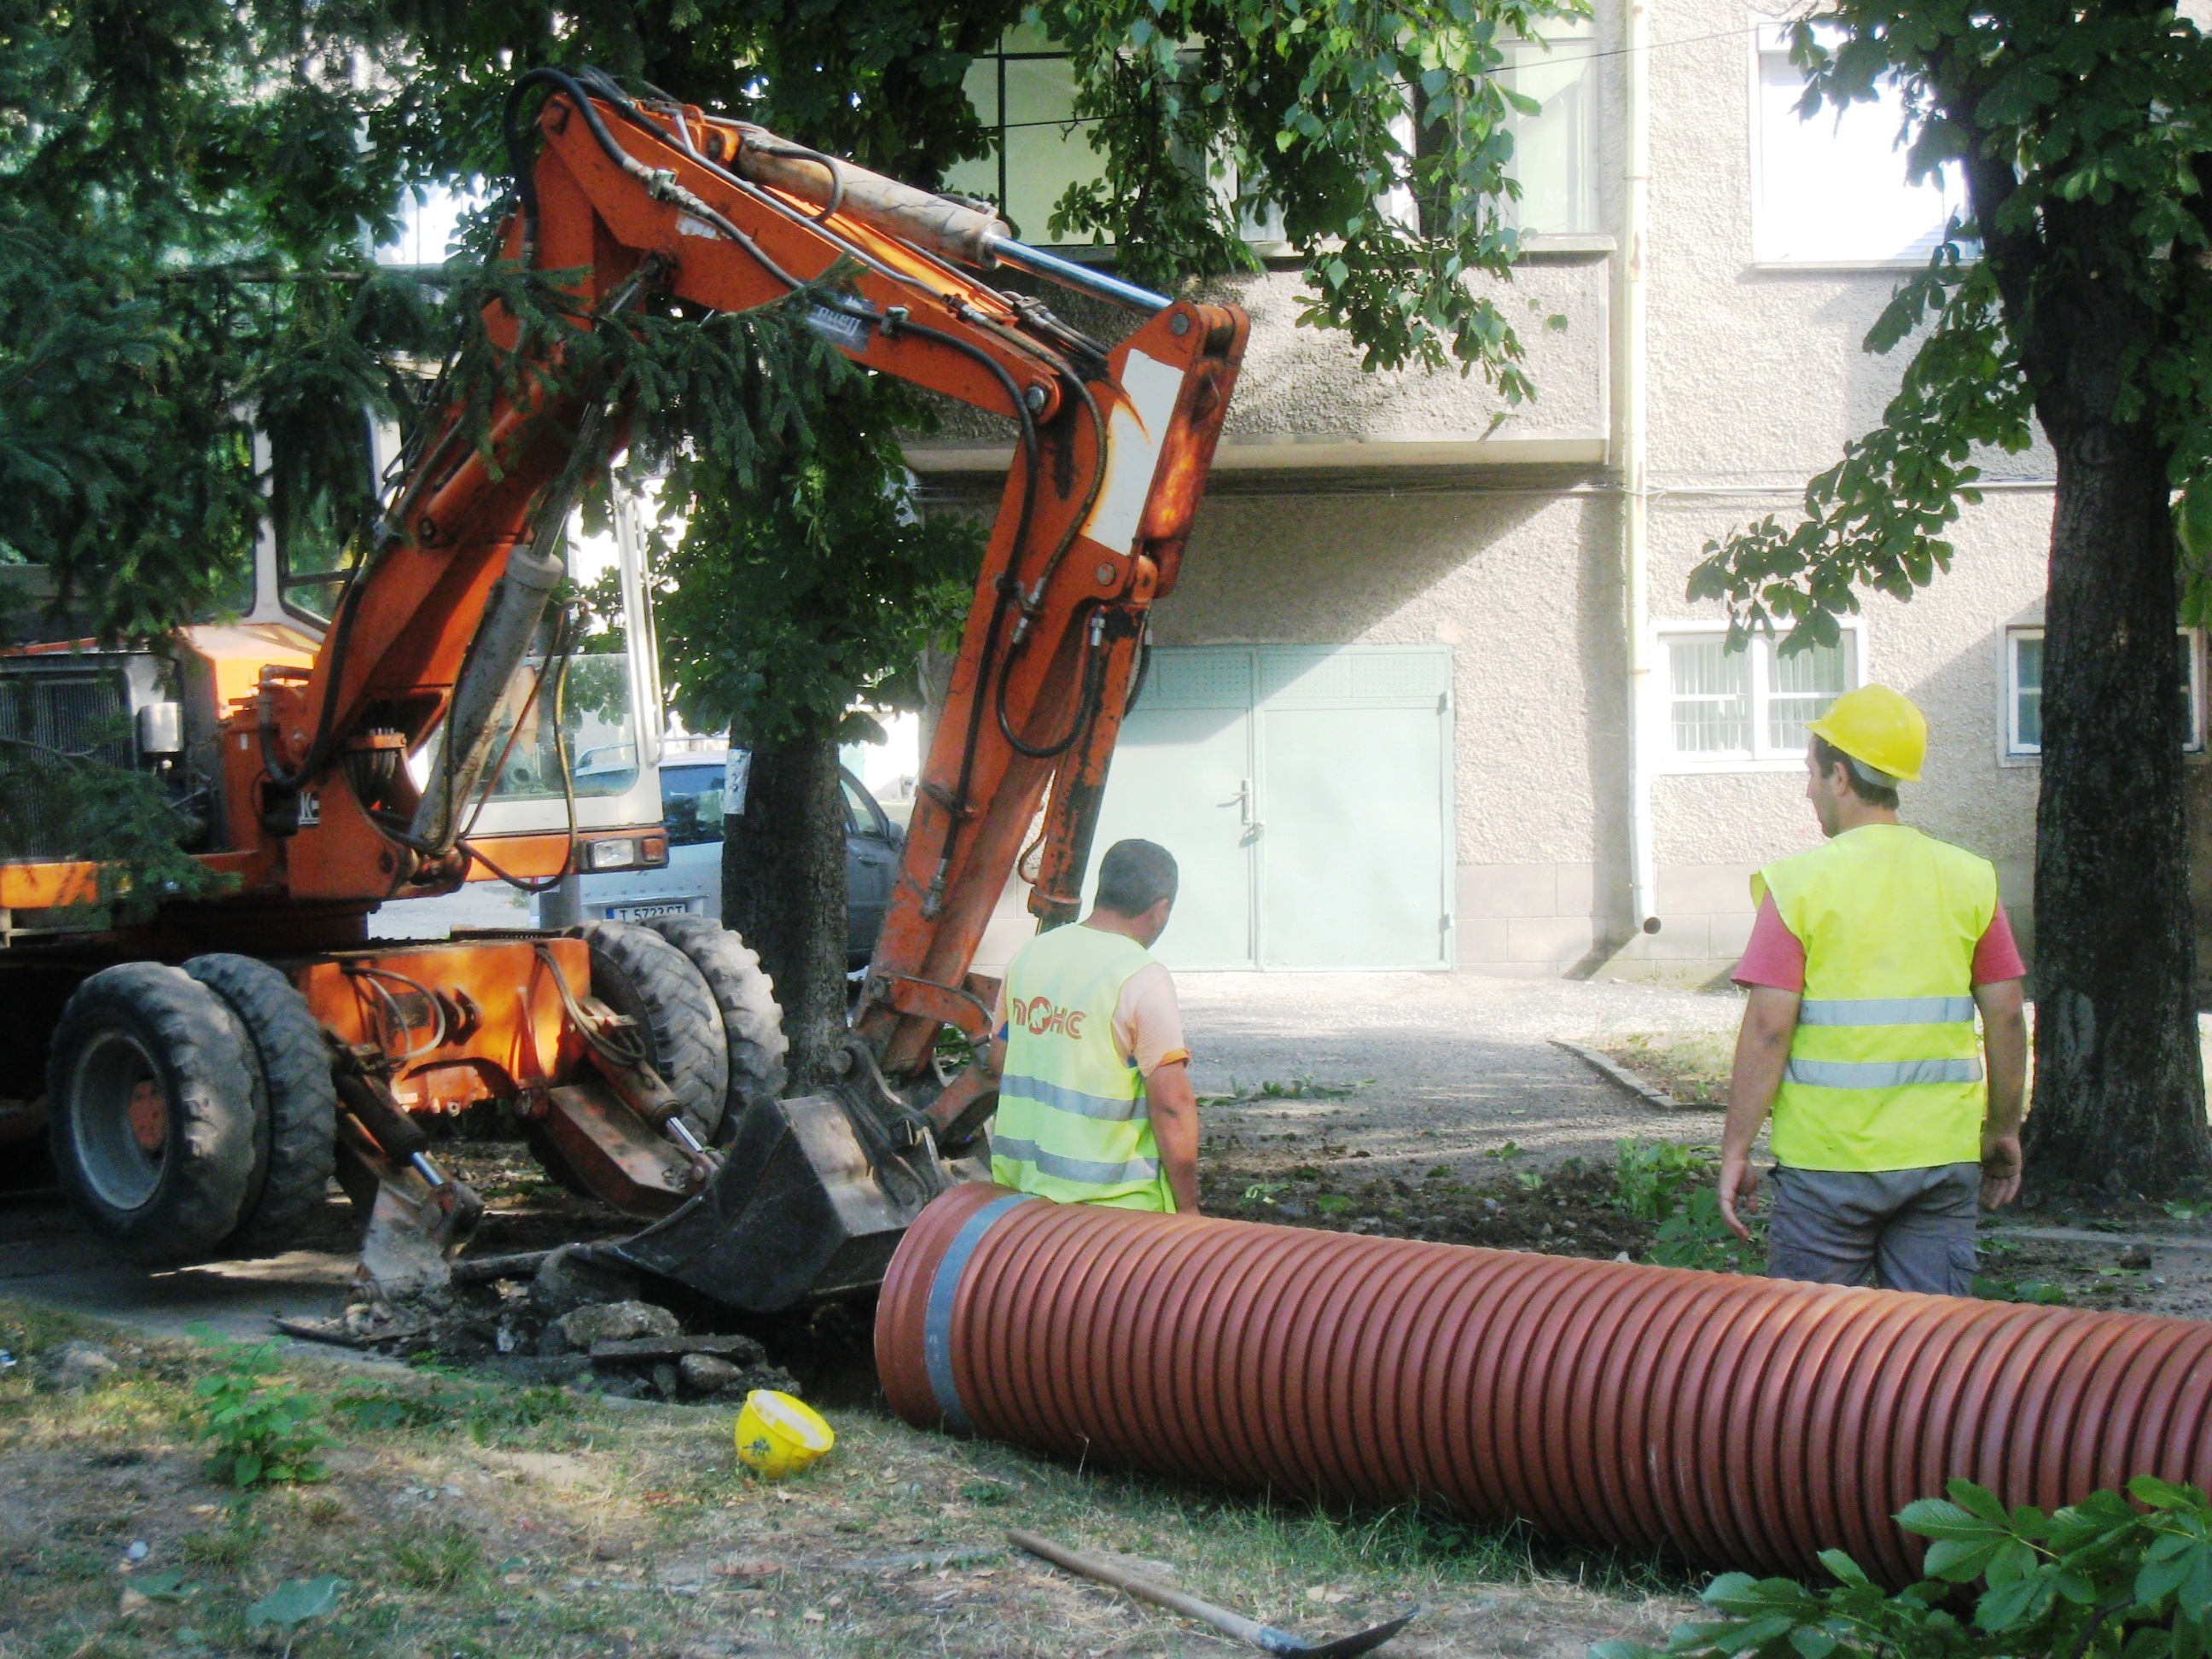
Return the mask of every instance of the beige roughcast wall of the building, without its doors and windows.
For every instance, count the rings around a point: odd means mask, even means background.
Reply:
[[[1790,522],[1805,480],[1880,420],[1909,354],[1863,349],[1900,270],[1754,261],[1745,24],[1734,0],[1652,7],[1652,633],[1721,615],[1686,597],[1705,542],[1770,513]],[[1599,42],[1617,40],[1608,0]],[[1601,93],[1599,177],[1617,223],[1617,62],[1604,66]],[[1743,947],[1750,874],[1818,832],[1801,765],[1655,776],[1661,927],[1632,933],[1624,513],[1606,471],[1617,453],[1617,276],[1613,239],[1586,237],[1537,243],[1502,290],[1540,387],[1520,409],[1504,409],[1480,376],[1367,374],[1340,336],[1296,325],[1294,270],[1221,283],[1252,312],[1252,345],[1155,639],[1449,644],[1458,964],[1703,982]],[[1542,325],[1548,314],[1566,319],[1564,332]],[[918,465],[938,480],[991,476],[995,489],[1004,445],[989,422],[956,420]],[[1907,821],[1993,858],[2033,945],[2037,768],[2002,754],[2000,686],[2006,626],[2039,619],[2053,462],[2037,447],[1991,456],[1986,471],[1997,487],[1955,524],[1953,568],[1909,602],[1865,595],[1863,677],[1898,686],[1931,717],[1927,781],[1909,785]],[[1659,684],[1644,719],[1657,737],[1666,659],[1650,661]],[[2212,770],[2192,770],[2192,825],[2212,852]]]

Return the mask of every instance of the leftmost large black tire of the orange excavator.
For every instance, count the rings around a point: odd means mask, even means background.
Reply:
[[[53,1168],[148,1265],[239,1225],[254,1179],[254,1062],[230,1006],[184,969],[119,962],[62,1009],[46,1062]]]

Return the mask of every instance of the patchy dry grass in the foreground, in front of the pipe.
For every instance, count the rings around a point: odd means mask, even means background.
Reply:
[[[1323,1511],[1057,1464],[836,1411],[803,1478],[737,1467],[726,1411],[332,1409],[434,1398],[456,1378],[290,1363],[325,1409],[330,1480],[239,1495],[186,1438],[210,1356],[0,1303],[0,1347],[71,1334],[124,1360],[82,1396],[0,1374],[0,1655],[1088,1655],[1179,1650],[1188,1626],[1006,1553],[1029,1526],[1164,1562],[1172,1582],[1307,1635],[1420,1601],[1449,1650],[1657,1635],[1688,1582],[1650,1557],[1566,1551],[1524,1526],[1422,1509]],[[148,1542],[124,1571],[133,1540]],[[161,1577],[175,1573],[175,1582]],[[150,1597],[122,1597],[137,1582]],[[250,1630],[285,1584],[336,1575],[336,1604]],[[1663,1601],[1657,1604],[1657,1601]],[[1130,1648],[1128,1644],[1139,1646]]]

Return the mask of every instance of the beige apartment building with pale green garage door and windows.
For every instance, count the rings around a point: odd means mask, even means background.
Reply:
[[[1102,827],[1181,858],[1175,967],[1723,975],[1750,874],[1816,838],[1805,721],[1867,679],[1929,714],[1907,818],[1997,863],[2033,949],[2048,451],[1993,456],[1951,573],[1865,595],[1836,648],[1728,653],[1686,597],[1880,418],[1902,358],[1860,341],[1958,206],[1905,184],[1893,104],[1798,117],[1783,15],[1599,0],[1517,49],[1542,113],[1500,296],[1540,398],[1502,422],[1480,380],[1363,374],[1298,327],[1252,226],[1270,270],[1223,283],[1252,347]],[[1000,148],[956,184],[1040,237],[1099,166],[1066,66],[1015,35],[969,88]],[[1006,458],[958,422],[911,451],[975,498]],[[2177,650],[2194,750],[2205,644]],[[1009,902],[984,956],[1020,933]]]

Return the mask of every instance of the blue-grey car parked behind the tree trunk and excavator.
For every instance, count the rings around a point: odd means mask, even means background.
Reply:
[[[661,823],[668,865],[577,880],[582,918],[641,922],[648,916],[721,918],[721,821],[730,803],[743,810],[745,750],[708,750],[661,759]],[[867,967],[898,878],[900,830],[849,770],[845,785],[845,964]],[[732,787],[734,779],[734,787]]]

